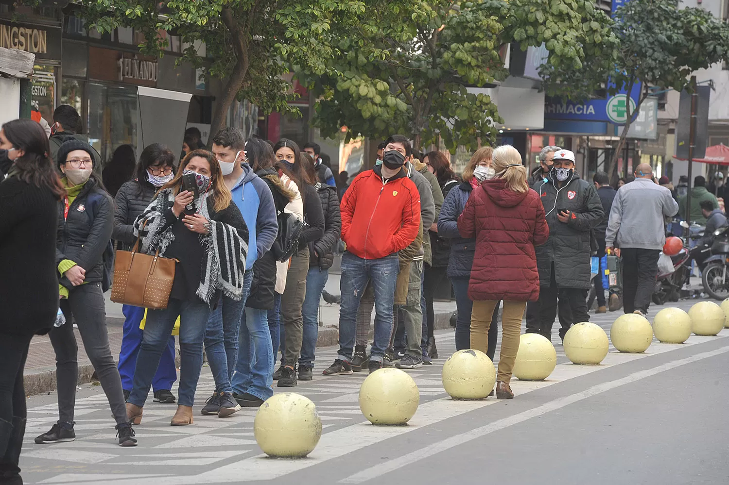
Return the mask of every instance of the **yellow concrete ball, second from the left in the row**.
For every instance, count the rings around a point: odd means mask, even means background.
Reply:
[[[405,425],[418,410],[420,391],[399,368],[381,368],[359,388],[359,409],[373,425]]]

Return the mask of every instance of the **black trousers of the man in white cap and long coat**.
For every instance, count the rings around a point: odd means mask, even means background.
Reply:
[[[550,285],[539,288],[539,299],[526,305],[526,332],[542,334],[551,340],[552,325],[559,309],[559,337],[564,340],[564,334],[575,323],[590,321],[587,299],[585,288],[557,287],[553,264]]]

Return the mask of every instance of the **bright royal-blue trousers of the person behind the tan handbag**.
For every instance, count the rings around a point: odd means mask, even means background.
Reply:
[[[144,318],[144,308],[122,305],[122,313],[126,319],[124,320],[122,349],[119,352],[119,365],[117,367],[122,378],[122,389],[131,390],[134,385],[134,368],[136,368],[136,358],[139,354],[143,334],[139,324],[141,319]],[[160,366],[157,367],[157,374],[152,380],[152,389],[155,390],[155,393],[158,390],[171,390],[176,380],[175,338],[170,336],[167,347],[165,347],[160,359]]]

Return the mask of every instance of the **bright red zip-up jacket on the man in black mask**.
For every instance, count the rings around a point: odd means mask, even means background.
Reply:
[[[352,181],[340,208],[342,240],[362,259],[401,251],[420,230],[421,197],[405,170],[391,178],[383,178],[381,166],[365,170]]]

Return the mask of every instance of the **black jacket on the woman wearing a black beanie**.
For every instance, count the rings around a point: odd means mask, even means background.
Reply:
[[[104,251],[109,246],[114,229],[114,201],[92,176],[69,206],[58,204],[58,236],[56,238],[55,264],[70,259],[85,269],[85,283],[104,280]],[[65,276],[59,280],[66,288],[73,288]]]

